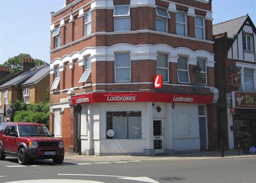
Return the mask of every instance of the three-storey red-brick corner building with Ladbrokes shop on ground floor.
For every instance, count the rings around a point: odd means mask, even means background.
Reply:
[[[50,130],[66,151],[218,148],[212,20],[211,1],[66,1],[50,51]]]

